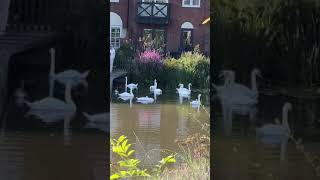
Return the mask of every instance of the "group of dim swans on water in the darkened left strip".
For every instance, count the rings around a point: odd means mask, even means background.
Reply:
[[[90,72],[86,71],[84,73],[79,73],[76,70],[66,70],[55,73],[55,50],[53,48],[50,49],[50,55],[49,96],[34,102],[24,100],[25,104],[30,108],[26,116],[36,116],[46,123],[62,120],[66,117],[71,118],[75,115],[77,107],[72,99],[72,88],[83,83]],[[64,101],[53,97],[55,80],[66,86]],[[87,113],[84,113],[84,115],[89,122],[107,121],[106,114],[88,115]]]

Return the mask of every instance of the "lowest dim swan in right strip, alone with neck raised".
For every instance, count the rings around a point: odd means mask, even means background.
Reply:
[[[256,133],[262,137],[288,137],[290,135],[290,127],[288,123],[288,112],[292,109],[291,103],[287,102],[282,108],[282,124],[266,124],[257,128]],[[279,140],[280,138],[275,138]]]

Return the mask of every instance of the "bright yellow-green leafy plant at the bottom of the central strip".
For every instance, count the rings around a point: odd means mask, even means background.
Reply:
[[[111,166],[111,169],[114,172],[110,176],[110,179],[123,179],[129,177],[157,178],[165,169],[166,165],[176,162],[175,154],[162,158],[161,161],[159,161],[159,164],[154,168],[155,174],[152,175],[147,169],[139,168],[140,160],[131,158],[131,155],[135,150],[130,149],[132,144],[128,143],[126,136],[122,135],[118,139],[111,139],[110,144],[112,146],[112,152],[121,158],[121,160],[117,162],[118,167],[116,170],[113,170],[115,167]]]

